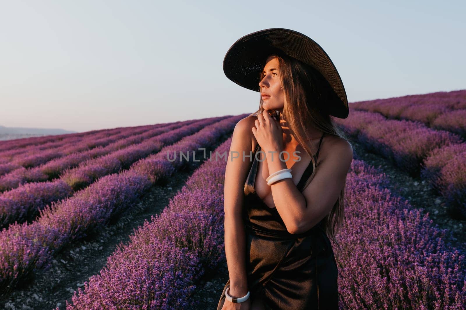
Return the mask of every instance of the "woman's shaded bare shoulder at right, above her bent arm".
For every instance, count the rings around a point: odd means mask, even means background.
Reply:
[[[325,143],[323,142],[325,140]],[[353,146],[348,140],[338,136],[324,136],[319,151],[319,159],[334,162],[344,162],[350,165],[353,160]]]

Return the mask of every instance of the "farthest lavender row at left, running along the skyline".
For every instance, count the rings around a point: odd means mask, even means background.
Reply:
[[[100,156],[99,149],[102,150],[105,146],[115,145],[120,141],[128,140],[130,143],[134,137],[148,134],[151,131],[157,131],[159,128],[164,128],[169,125],[181,125],[182,122],[176,122],[171,124],[157,124],[151,126],[144,126],[145,128],[139,127],[128,127],[123,130],[118,130],[115,133],[102,132],[96,135],[86,135],[85,137],[78,137],[73,139],[62,139],[60,141],[54,141],[45,145],[31,146],[26,149],[13,149],[3,154],[3,160],[8,160],[7,163],[0,164],[0,176],[20,169],[24,170],[24,174],[27,175],[25,168],[31,168],[41,165],[40,170],[42,173],[47,174],[49,178],[55,176],[54,167],[43,166],[43,164],[53,161],[54,159],[62,159],[69,156],[75,156],[75,153],[86,154],[87,158],[93,156]],[[136,142],[133,142],[136,143]],[[34,173],[29,172],[32,176]]]

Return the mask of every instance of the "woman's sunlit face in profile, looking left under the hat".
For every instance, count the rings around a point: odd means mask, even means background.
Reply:
[[[280,85],[279,70],[278,58],[267,58],[259,86],[261,87],[260,94],[263,100],[262,107],[267,110],[278,110],[283,112],[285,97]]]

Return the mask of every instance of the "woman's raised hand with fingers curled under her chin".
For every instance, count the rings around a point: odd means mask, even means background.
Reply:
[[[283,150],[283,130],[280,123],[270,116],[268,110],[264,110],[254,121],[255,127],[251,128],[260,148],[266,154],[268,151],[281,152]]]

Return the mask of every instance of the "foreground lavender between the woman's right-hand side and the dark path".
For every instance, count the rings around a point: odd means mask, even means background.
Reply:
[[[454,248],[450,231],[388,183],[382,171],[353,160],[338,234],[344,250],[336,254],[341,308],[464,309],[465,247]]]

